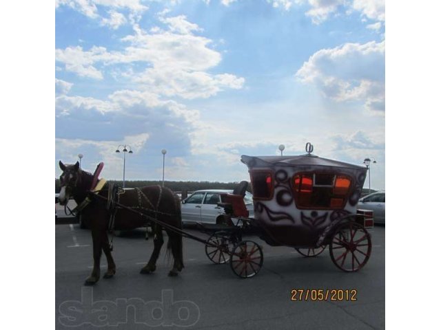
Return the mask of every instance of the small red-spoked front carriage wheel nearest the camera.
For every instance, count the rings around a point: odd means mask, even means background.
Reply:
[[[241,241],[234,247],[229,264],[237,276],[253,277],[263,265],[262,248],[253,241]]]

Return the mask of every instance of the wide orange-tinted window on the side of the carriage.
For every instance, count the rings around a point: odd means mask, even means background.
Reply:
[[[339,209],[345,207],[351,179],[329,173],[298,173],[293,183],[299,208]]]

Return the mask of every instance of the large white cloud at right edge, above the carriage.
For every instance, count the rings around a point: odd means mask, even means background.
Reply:
[[[372,41],[319,50],[296,77],[315,85],[327,98],[359,100],[367,109],[384,111],[384,47],[384,41]]]

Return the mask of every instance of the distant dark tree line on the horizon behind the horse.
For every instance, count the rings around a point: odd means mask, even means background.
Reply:
[[[123,186],[123,181],[108,180]],[[125,181],[125,188],[136,188],[143,186],[155,186],[161,185],[163,181]],[[210,182],[210,181],[165,181],[164,186],[172,189],[173,191],[194,191],[203,189],[234,189],[238,185],[238,182]],[[251,192],[251,185],[248,185],[248,191]],[[55,192],[60,192],[60,180],[55,179]]]

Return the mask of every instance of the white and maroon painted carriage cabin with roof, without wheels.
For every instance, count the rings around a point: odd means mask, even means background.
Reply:
[[[367,168],[308,153],[242,156],[249,168],[254,219],[269,245],[314,248],[342,217],[356,213]]]

